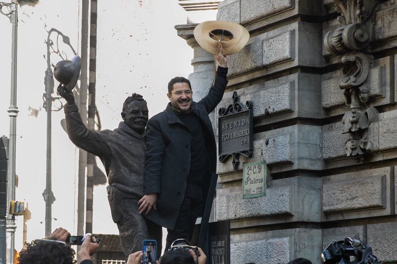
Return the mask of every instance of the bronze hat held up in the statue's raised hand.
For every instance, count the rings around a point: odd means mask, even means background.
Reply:
[[[77,83],[80,68],[80,57],[75,55],[71,60],[61,60],[55,65],[54,77],[70,92]]]

